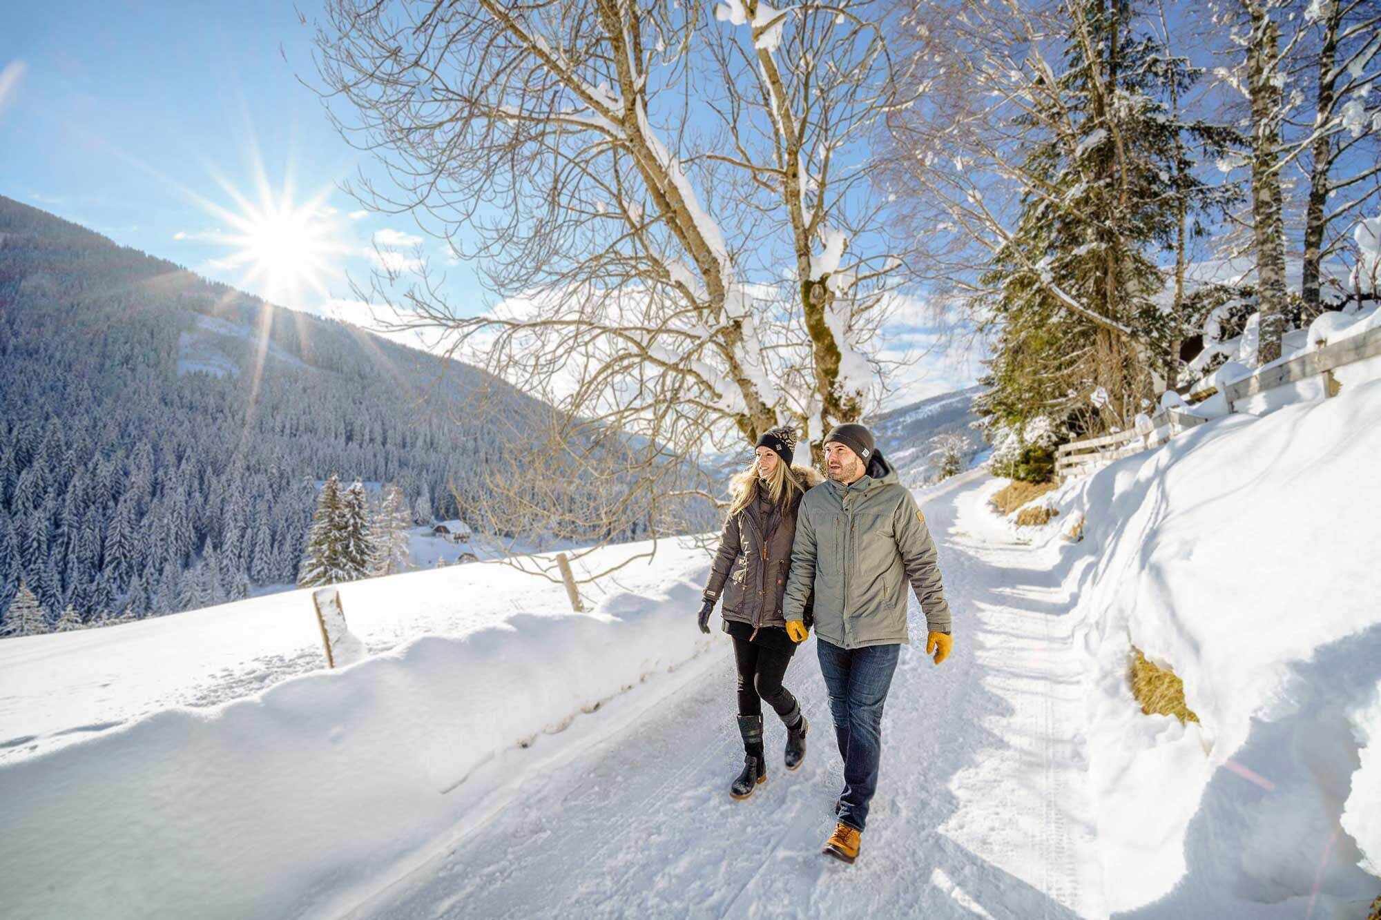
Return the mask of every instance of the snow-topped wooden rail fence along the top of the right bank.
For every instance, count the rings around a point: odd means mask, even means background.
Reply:
[[[1228,412],[1237,412],[1237,405],[1268,390],[1323,377],[1326,396],[1338,395],[1338,381],[1333,372],[1345,365],[1381,355],[1381,327],[1344,338],[1333,345],[1322,345],[1315,351],[1284,361],[1273,367],[1257,372],[1250,377],[1224,387]],[[1160,409],[1150,417],[1150,428],[1119,431],[1099,438],[1085,438],[1061,445],[1055,459],[1059,475],[1080,475],[1094,466],[1130,457],[1142,450],[1164,445],[1175,435],[1201,425],[1208,419],[1192,416],[1179,409]]]

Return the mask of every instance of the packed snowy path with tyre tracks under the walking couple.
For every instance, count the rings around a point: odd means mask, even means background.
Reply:
[[[913,627],[855,866],[819,855],[841,772],[815,640],[787,673],[807,761],[780,767],[769,713],[769,778],[744,803],[725,792],[742,757],[725,642],[490,763],[452,793],[475,798],[452,838],[351,916],[1103,916],[1069,600],[1052,555],[976,510],[985,482],[918,493],[957,644],[934,667]]]

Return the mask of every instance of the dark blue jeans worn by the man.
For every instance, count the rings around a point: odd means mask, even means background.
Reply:
[[[844,758],[844,794],[840,822],[863,830],[867,808],[877,792],[882,758],[882,705],[892,687],[900,645],[869,645],[844,649],[816,637],[820,674],[830,693],[834,738]]]

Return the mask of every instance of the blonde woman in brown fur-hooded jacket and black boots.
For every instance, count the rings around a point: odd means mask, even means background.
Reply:
[[[794,450],[795,431],[773,428],[758,439],[753,466],[733,478],[733,500],[700,606],[700,631],[708,633],[710,612],[722,591],[724,631],[733,637],[739,734],[744,751],[743,772],[729,786],[735,798],[747,798],[768,778],[762,754],[762,700],[786,725],[786,768],[795,769],[805,757],[809,724],[795,696],[782,687],[795,652],[795,642],[782,619],[782,594],[791,565],[797,507],[805,490],[822,478],[808,467],[793,467]],[[809,604],[807,611],[809,624]]]

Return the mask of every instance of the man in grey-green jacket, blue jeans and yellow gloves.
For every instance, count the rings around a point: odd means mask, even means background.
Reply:
[[[936,664],[950,652],[950,611],[925,518],[873,434],[838,425],[824,439],[824,459],[829,479],[805,493],[797,512],[782,611],[787,633],[804,641],[813,588],[816,651],[844,758],[837,826],[823,852],[852,863],[877,790],[882,705],[907,644],[906,583],[925,612],[925,652]]]

